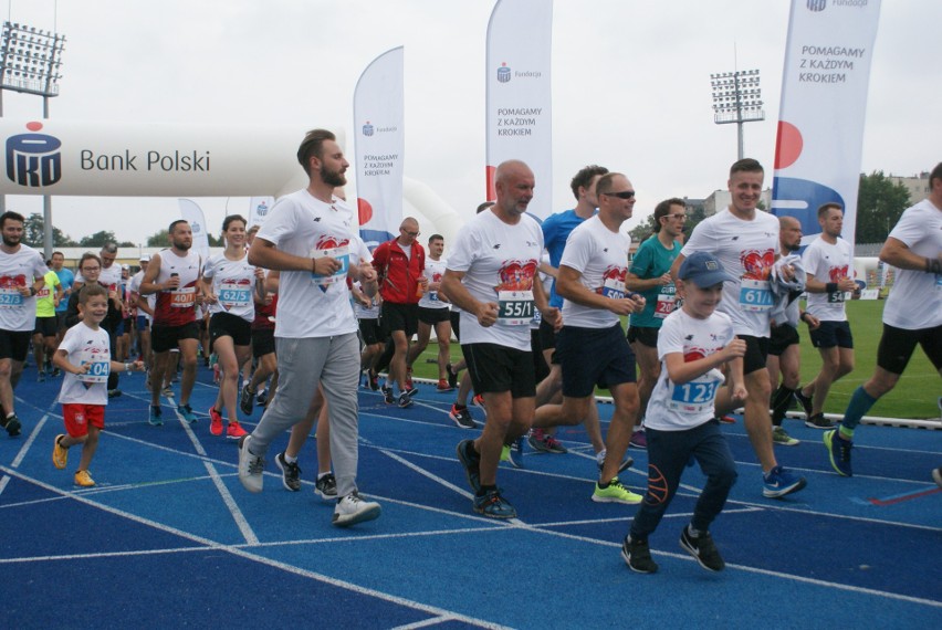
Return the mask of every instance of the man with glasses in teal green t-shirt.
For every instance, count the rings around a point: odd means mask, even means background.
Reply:
[[[631,315],[628,343],[638,359],[638,397],[641,402],[638,418],[643,419],[648,399],[661,372],[658,360],[658,332],[664,317],[673,313],[677,288],[670,276],[670,266],[680,254],[680,238],[687,221],[687,207],[682,199],[664,199],[655,208],[655,233],[638,246],[631,267],[625,276],[625,286],[645,297],[645,309]],[[647,447],[645,433],[631,435],[631,445]]]

